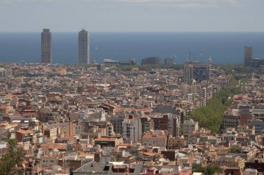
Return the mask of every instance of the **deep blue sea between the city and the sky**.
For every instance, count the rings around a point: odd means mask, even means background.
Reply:
[[[242,64],[244,47],[264,58],[264,33],[90,33],[90,60],[176,57]],[[78,62],[78,33],[52,33],[53,63]],[[40,33],[0,33],[0,62],[40,62]]]

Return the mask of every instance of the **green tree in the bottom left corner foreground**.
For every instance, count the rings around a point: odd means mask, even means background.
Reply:
[[[10,134],[7,142],[8,151],[0,159],[0,174],[13,175],[16,174],[16,165],[22,160],[22,150],[17,148],[17,141],[10,138]]]

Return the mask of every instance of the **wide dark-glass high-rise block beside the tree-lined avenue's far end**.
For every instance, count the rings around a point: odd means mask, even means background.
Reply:
[[[199,62],[192,62],[185,64],[183,68],[183,81],[190,83],[192,80],[201,82],[204,80],[210,80],[211,78],[211,65],[201,64]]]

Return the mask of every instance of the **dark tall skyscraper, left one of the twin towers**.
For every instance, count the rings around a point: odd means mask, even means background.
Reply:
[[[51,32],[44,28],[41,33],[41,63],[51,63]]]

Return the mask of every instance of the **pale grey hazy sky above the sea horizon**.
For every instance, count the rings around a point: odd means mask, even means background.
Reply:
[[[0,0],[0,32],[263,31],[264,0]]]

